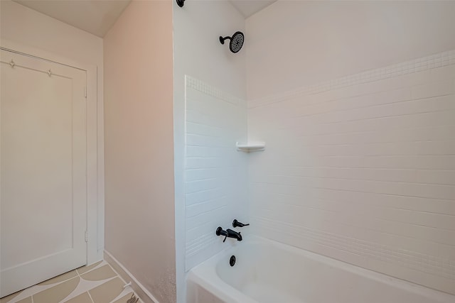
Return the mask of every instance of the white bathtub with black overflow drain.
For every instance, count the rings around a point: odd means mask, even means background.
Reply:
[[[249,235],[188,272],[187,302],[454,303],[455,296]]]

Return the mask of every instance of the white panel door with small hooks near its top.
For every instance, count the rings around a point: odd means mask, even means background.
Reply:
[[[86,73],[1,50],[0,297],[87,263]]]

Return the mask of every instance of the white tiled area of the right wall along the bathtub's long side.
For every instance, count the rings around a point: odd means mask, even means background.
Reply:
[[[455,51],[248,103],[255,233],[455,294]]]

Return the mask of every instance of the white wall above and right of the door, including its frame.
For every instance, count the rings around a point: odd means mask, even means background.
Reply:
[[[87,71],[87,262],[94,263],[104,249],[102,38],[9,0],[0,4],[2,47]]]

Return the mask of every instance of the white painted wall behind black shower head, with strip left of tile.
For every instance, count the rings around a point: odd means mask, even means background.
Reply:
[[[235,31],[244,31],[245,20],[228,1],[191,0],[186,1],[183,8],[178,7],[175,1],[173,3],[177,301],[185,302],[186,229],[188,229],[184,180],[184,171],[188,168],[185,166],[185,75],[198,79],[209,87],[245,100],[245,52],[241,50],[237,54],[230,53],[228,45],[221,45],[218,40],[220,35],[232,35]],[[247,39],[248,37],[246,37]],[[222,101],[219,102],[223,104]],[[232,145],[235,145],[235,142],[232,142]],[[224,184],[219,185],[225,186]],[[193,214],[193,216],[197,216],[197,214]],[[204,221],[207,216],[200,218],[200,222],[195,220],[190,223],[195,228],[193,232],[195,236],[205,234],[208,236],[208,230],[213,229],[211,225],[214,223],[203,227],[207,228],[207,231],[200,231],[194,224],[203,226],[207,223]],[[232,219],[225,218],[219,222],[219,225],[228,228]],[[213,238],[216,238],[215,229],[213,229]],[[215,251],[216,249],[210,250],[210,254]]]

